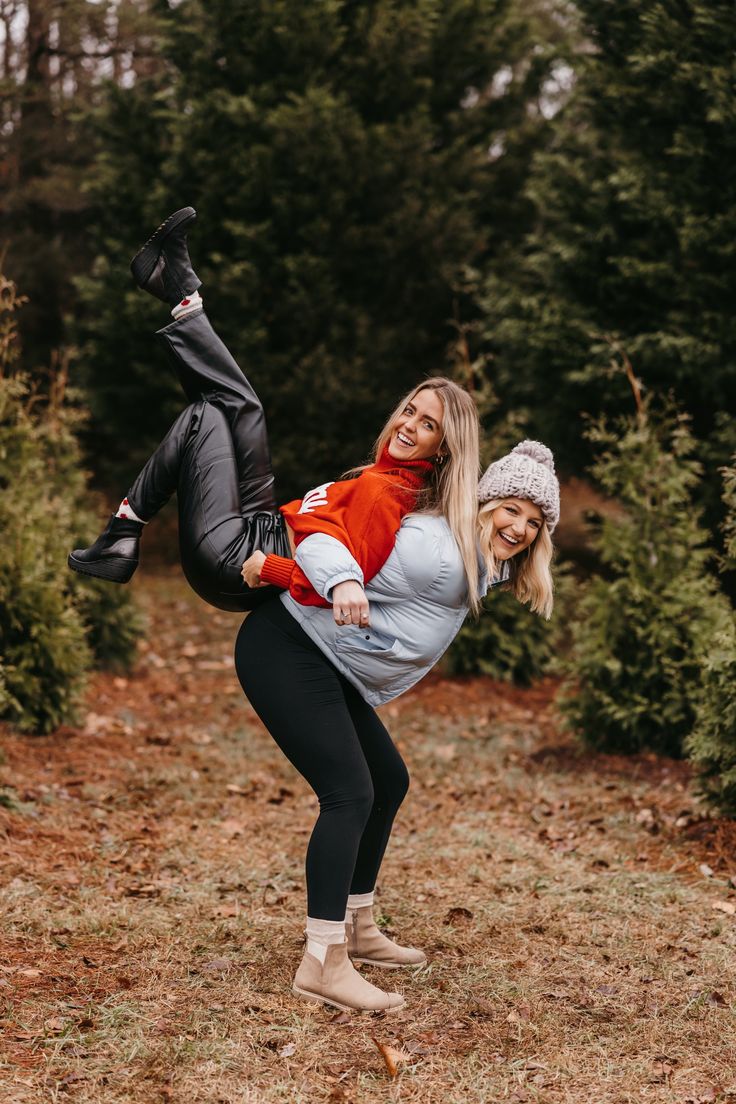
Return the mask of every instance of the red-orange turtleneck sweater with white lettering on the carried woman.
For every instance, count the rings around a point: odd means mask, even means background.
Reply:
[[[384,448],[356,478],[322,484],[280,511],[297,548],[311,533],[327,533],[345,545],[367,583],[386,562],[402,518],[414,509],[431,469],[430,460],[402,463]],[[294,560],[267,555],[260,578],[288,590],[303,606],[330,606]]]

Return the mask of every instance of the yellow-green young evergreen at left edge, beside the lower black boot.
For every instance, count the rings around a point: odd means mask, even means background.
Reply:
[[[100,602],[66,565],[78,527],[93,524],[79,414],[64,365],[44,395],[12,374],[21,301],[0,277],[0,718],[50,732],[73,720],[95,654],[131,658],[138,623],[127,594]]]

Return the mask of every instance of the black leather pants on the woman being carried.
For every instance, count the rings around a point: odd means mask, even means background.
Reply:
[[[148,521],[177,491],[179,545],[192,588],[218,609],[254,609],[278,593],[241,576],[252,552],[289,556],[274,498],[266,421],[258,397],[204,311],[159,330],[190,405],[128,491]]]

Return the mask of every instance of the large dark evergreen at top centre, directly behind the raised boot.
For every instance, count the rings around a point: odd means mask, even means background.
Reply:
[[[178,6],[161,72],[96,119],[104,216],[82,338],[98,452],[129,467],[181,401],[152,367],[166,316],[126,261],[192,203],[207,310],[264,399],[282,492],[361,459],[397,394],[446,370],[474,309],[468,266],[525,225],[546,125],[530,104],[562,34],[546,7]]]

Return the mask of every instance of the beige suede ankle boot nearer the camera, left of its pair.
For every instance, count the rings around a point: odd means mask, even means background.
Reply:
[[[344,1011],[393,1012],[404,1007],[398,992],[384,992],[361,977],[348,957],[346,942],[331,944],[323,964],[305,951],[292,989],[308,1000]]]

